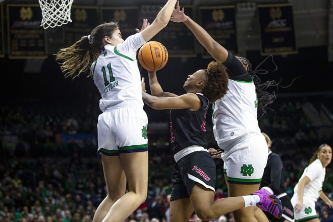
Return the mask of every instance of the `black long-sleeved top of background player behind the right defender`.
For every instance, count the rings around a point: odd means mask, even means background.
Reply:
[[[269,187],[275,195],[285,193],[284,179],[282,173],[282,160],[276,153],[268,154],[267,165],[262,175],[260,187]]]

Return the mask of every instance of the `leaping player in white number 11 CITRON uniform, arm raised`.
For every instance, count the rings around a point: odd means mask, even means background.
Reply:
[[[97,207],[94,222],[124,221],[146,200],[148,119],[136,54],[167,26],[175,5],[176,0],[167,1],[151,24],[144,19],[141,32],[126,40],[118,23],[108,22],[57,53],[65,77],[74,79],[87,73],[101,95],[97,154],[101,155],[107,196]]]

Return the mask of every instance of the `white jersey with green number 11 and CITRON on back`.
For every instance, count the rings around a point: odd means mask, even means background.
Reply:
[[[141,33],[137,33],[117,46],[105,45],[98,59],[91,65],[94,83],[101,95],[99,108],[102,112],[130,100],[139,102],[143,107],[141,75],[136,55],[144,43]]]

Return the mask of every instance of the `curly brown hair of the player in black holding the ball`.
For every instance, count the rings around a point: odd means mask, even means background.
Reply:
[[[208,81],[202,93],[213,103],[227,93],[229,76],[222,63],[212,61],[207,67],[207,77]]]

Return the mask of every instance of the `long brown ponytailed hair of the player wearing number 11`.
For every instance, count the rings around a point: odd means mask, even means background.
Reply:
[[[73,45],[61,48],[55,54],[55,60],[60,64],[65,78],[74,79],[82,73],[87,73],[104,47],[104,37],[112,35],[118,28],[116,21],[100,24],[91,31],[89,37],[82,36]],[[91,72],[88,73],[87,77],[89,76],[92,76]]]

